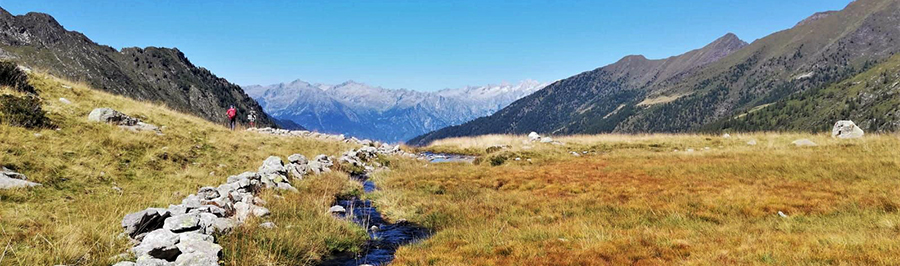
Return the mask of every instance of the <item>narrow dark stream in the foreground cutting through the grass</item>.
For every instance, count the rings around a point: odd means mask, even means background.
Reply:
[[[368,180],[366,175],[353,176],[362,182],[363,190],[371,193],[377,188],[375,183]],[[338,199],[337,205],[341,205],[347,213],[340,218],[350,219],[354,223],[366,228],[369,233],[369,241],[363,246],[362,252],[334,254],[334,256],[322,263],[331,266],[357,266],[357,265],[386,265],[394,260],[394,253],[402,245],[413,243],[431,236],[431,232],[417,224],[399,221],[390,223],[381,217],[381,213],[369,200],[361,200],[359,197]]]

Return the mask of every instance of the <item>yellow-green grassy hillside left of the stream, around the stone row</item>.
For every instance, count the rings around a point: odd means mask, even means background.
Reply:
[[[43,183],[30,190],[0,191],[0,265],[108,265],[114,262],[110,257],[130,247],[116,237],[127,213],[180,203],[201,186],[255,171],[270,155],[312,157],[350,148],[339,142],[231,132],[160,105],[43,74],[31,75],[30,82],[60,130],[0,125],[0,165]],[[61,103],[61,97],[73,104]],[[165,126],[165,135],[88,123],[87,114],[97,107]],[[278,229],[257,232],[248,226],[220,239],[224,263],[305,264],[364,241],[364,231],[326,213],[335,194],[352,193],[359,185],[338,173],[294,185],[301,193],[284,194],[284,199],[273,192],[263,195]]]

